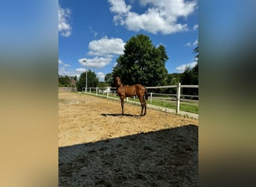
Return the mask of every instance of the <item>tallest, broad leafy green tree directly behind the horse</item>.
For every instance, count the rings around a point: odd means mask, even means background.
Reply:
[[[166,85],[167,60],[164,46],[153,46],[149,37],[138,34],[124,46],[124,54],[117,59],[113,77],[120,76],[126,85]]]

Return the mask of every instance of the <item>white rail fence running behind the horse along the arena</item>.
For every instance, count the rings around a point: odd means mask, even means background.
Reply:
[[[161,101],[166,103],[173,103],[176,108],[176,114],[180,113],[180,102],[183,102],[183,104],[186,105],[195,105],[198,106],[198,95],[185,95],[182,94],[182,88],[198,88],[198,85],[169,85],[169,86],[157,86],[157,87],[146,87],[147,88],[147,94],[150,104],[154,105],[154,101]],[[175,93],[154,93],[153,91],[156,91],[157,89],[162,88],[171,88],[176,89]],[[151,92],[150,92],[151,90]],[[153,91],[152,91],[153,90]],[[82,92],[94,94],[97,96],[103,96],[106,98],[111,99],[119,99],[119,96],[117,96],[116,88],[106,87],[106,88],[88,88],[85,90],[85,88],[82,88]],[[189,98],[189,99],[188,99]],[[191,99],[195,98],[195,99]],[[127,102],[136,102],[136,97],[133,97],[133,101],[129,100],[127,97]]]

